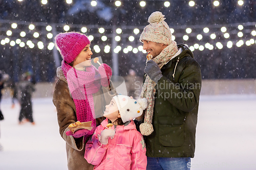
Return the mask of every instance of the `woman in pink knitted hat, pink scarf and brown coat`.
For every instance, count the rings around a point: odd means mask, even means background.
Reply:
[[[102,122],[104,106],[116,95],[110,81],[110,66],[101,64],[96,69],[92,65],[90,43],[86,35],[78,32],[60,33],[55,37],[55,46],[63,60],[57,68],[59,80],[53,104],[57,109],[59,133],[66,141],[70,170],[93,169],[83,157],[84,144]],[[71,132],[69,125],[77,121],[92,122],[92,130]]]

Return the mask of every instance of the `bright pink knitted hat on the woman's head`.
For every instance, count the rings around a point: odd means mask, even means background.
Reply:
[[[88,44],[90,44],[88,37],[78,32],[59,33],[55,37],[55,46],[59,48],[61,57],[68,64],[74,61]]]

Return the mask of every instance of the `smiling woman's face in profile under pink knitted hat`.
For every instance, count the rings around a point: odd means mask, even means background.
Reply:
[[[92,65],[91,62],[91,56],[93,55],[90,44],[86,45],[86,47],[83,48],[83,50],[78,54],[78,56],[75,58],[73,67],[75,68],[81,68],[89,67]]]

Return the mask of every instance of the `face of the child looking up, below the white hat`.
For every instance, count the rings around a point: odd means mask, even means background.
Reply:
[[[120,114],[118,114],[118,107],[116,104],[115,99],[112,99],[109,105],[106,105],[106,109],[104,111],[103,116],[110,119],[111,122],[114,122],[118,117],[120,117]]]

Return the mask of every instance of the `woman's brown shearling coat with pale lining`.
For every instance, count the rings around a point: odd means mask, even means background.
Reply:
[[[89,170],[93,169],[93,165],[89,164],[84,159],[85,143],[89,137],[74,138],[67,136],[66,132],[69,130],[68,126],[77,121],[76,107],[73,99],[70,96],[67,79],[63,75],[62,69],[57,68],[57,77],[59,80],[56,82],[53,93],[53,104],[57,109],[57,118],[59,125],[60,136],[66,141],[66,151],[69,170]],[[103,115],[105,105],[108,105],[113,96],[116,95],[116,90],[111,83],[111,88],[103,87],[93,94],[95,115]],[[103,117],[96,119],[97,126],[102,122]]]

